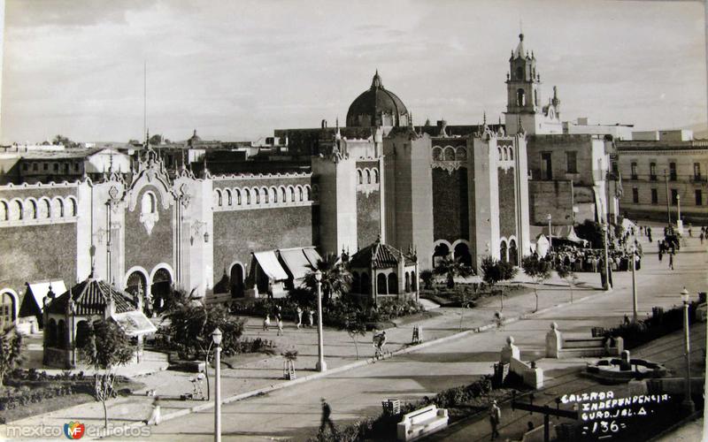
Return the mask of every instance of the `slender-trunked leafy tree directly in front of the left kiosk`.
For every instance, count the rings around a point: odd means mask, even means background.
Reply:
[[[115,395],[114,370],[133,359],[135,348],[118,324],[111,319],[99,319],[89,324],[89,339],[79,350],[81,356],[96,370],[96,400],[104,406],[104,428],[108,428],[108,408],[105,402]]]

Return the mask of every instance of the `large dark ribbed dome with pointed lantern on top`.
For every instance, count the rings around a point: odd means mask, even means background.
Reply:
[[[378,71],[371,88],[359,95],[347,112],[347,127],[408,126],[408,120],[404,102],[383,88]]]

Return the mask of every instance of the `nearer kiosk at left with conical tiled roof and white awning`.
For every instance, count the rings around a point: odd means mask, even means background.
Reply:
[[[117,290],[105,281],[89,278],[58,297],[48,293],[44,298],[43,363],[51,367],[73,369],[77,349],[89,339],[90,324],[97,319],[111,319],[130,337],[137,338],[138,361],[142,337],[157,331],[142,313],[142,300]]]

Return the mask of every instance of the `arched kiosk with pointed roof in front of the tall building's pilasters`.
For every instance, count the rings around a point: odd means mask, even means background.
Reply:
[[[374,304],[385,298],[418,301],[418,256],[376,240],[349,259],[351,294]]]

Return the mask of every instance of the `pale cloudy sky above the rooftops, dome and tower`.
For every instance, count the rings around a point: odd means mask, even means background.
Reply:
[[[416,124],[504,111],[523,23],[561,118],[706,119],[704,8],[645,1],[7,0],[0,141],[242,140],[343,120],[376,68]]]

